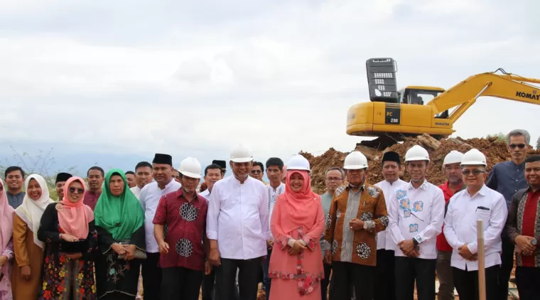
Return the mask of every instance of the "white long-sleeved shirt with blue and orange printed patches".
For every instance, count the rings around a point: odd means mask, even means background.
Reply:
[[[436,237],[442,231],[444,219],[443,191],[428,181],[419,188],[404,183],[396,187],[387,206],[395,256],[405,257],[397,244],[414,238],[419,242],[418,258],[436,259]]]

